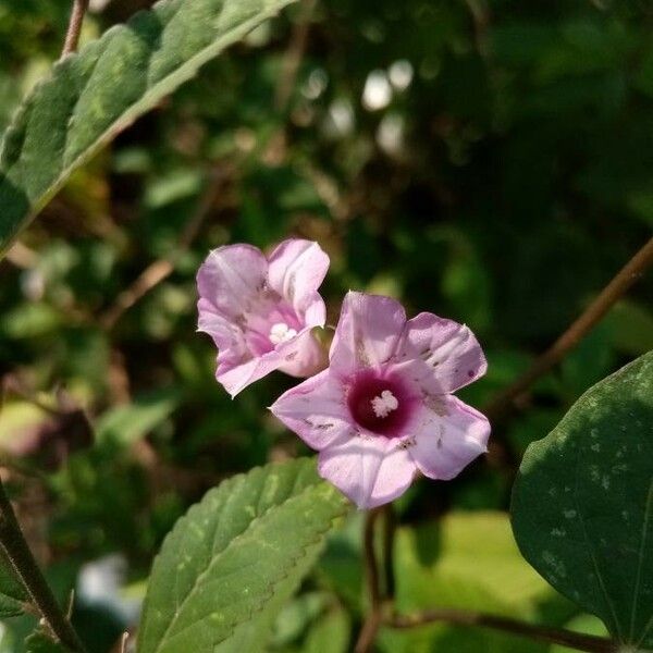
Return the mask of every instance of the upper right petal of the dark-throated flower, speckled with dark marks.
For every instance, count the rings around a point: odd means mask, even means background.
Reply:
[[[488,369],[481,346],[465,324],[428,312],[408,320],[395,361],[403,374],[431,394],[454,392]]]

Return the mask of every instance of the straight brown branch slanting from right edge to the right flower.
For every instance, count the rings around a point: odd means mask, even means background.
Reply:
[[[551,370],[572,349],[605,313],[628,292],[653,263],[651,238],[601,291],[582,315],[544,352],[519,379],[488,404],[483,411],[496,419],[509,411],[520,396],[540,377]]]

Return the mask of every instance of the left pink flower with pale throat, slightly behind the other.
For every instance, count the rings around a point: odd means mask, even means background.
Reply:
[[[197,273],[198,330],[219,349],[215,378],[234,397],[273,370],[309,377],[323,367],[311,334],[323,326],[318,294],[329,257],[317,243],[284,241],[266,259],[250,245],[209,254]]]

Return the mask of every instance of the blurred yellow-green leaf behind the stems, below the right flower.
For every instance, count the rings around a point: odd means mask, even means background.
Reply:
[[[401,614],[453,607],[538,621],[544,606],[557,599],[519,555],[505,513],[453,513],[440,522],[401,528],[394,559]],[[380,648],[387,653],[546,651],[514,636],[446,624],[383,629]]]

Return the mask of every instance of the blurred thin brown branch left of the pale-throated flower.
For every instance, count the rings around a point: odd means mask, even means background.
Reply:
[[[180,237],[175,250],[165,258],[158,259],[150,263],[138,278],[125,288],[115,299],[114,304],[99,318],[100,325],[106,331],[111,331],[123,313],[139,301],[155,286],[168,279],[174,270],[174,264],[180,254],[188,249],[199,229],[209,214],[218,195],[223,188],[224,173],[213,172],[209,185],[195,214],[188,220]]]

